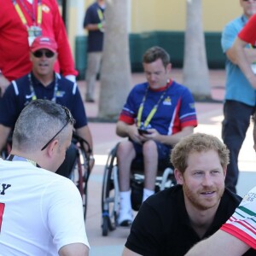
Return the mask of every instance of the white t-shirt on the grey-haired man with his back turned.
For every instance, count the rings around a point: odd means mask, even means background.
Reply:
[[[89,246],[79,189],[27,161],[0,159],[0,255],[58,255]]]

